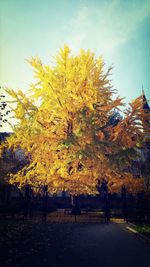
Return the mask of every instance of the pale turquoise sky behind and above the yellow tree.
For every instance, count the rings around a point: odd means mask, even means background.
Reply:
[[[125,102],[142,85],[150,99],[149,0],[0,0],[2,88],[26,92],[33,82],[26,59],[50,63],[64,44],[73,54],[91,49],[113,65],[112,84]]]

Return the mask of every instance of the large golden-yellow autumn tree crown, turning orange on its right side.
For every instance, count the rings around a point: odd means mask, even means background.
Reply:
[[[34,68],[34,84],[28,94],[6,89],[13,98],[18,119],[14,134],[3,150],[21,148],[29,163],[10,183],[26,183],[49,192],[95,194],[97,181],[107,180],[111,191],[122,185],[138,190],[142,179],[134,179],[128,167],[143,140],[142,98],[130,103],[123,118],[112,123],[123,105],[110,82],[111,68],[90,50],[73,56],[64,46],[51,65],[38,58],[28,60]]]

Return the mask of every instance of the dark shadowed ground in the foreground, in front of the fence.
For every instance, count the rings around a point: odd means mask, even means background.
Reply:
[[[150,244],[124,223],[1,220],[1,267],[148,267]]]

